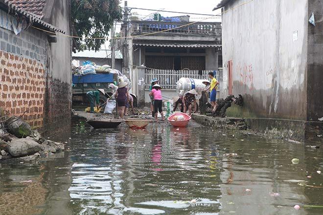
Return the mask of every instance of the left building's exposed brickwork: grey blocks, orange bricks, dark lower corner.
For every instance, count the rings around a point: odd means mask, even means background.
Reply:
[[[57,58],[45,33],[30,27],[15,35],[0,28],[0,108],[47,134],[70,124],[71,84],[53,78],[57,71],[47,63]]]

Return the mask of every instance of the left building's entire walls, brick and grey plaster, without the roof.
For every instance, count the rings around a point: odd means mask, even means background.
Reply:
[[[69,0],[56,0],[50,23],[70,35]],[[70,123],[71,41],[32,27],[19,35],[0,28],[0,108],[21,116],[33,127],[63,129]]]

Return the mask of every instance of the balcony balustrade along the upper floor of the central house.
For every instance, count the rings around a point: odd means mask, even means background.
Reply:
[[[190,24],[193,23],[193,24]],[[183,27],[181,27],[183,26]],[[173,29],[176,28],[176,29]],[[171,29],[171,30],[168,30]],[[161,32],[158,35],[221,37],[221,22],[132,21],[132,35]],[[156,34],[154,34],[156,35]]]

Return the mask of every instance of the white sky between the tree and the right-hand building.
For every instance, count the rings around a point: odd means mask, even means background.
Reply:
[[[147,8],[154,10],[179,11],[185,13],[199,13],[220,15],[221,9],[212,11],[212,9],[221,0],[128,0],[128,7]],[[120,6],[124,7],[124,0],[120,0]],[[131,12],[137,12],[139,18],[155,13],[155,11],[132,9]],[[161,16],[185,16],[186,14],[159,12]],[[136,15],[137,16],[137,15]],[[190,21],[200,21],[210,16],[189,15]],[[204,21],[221,21],[221,18],[212,18]],[[120,22],[116,24],[115,32],[120,32]],[[108,45],[108,44],[107,44]],[[108,45],[109,46],[109,45]],[[107,46],[107,47],[108,47]]]

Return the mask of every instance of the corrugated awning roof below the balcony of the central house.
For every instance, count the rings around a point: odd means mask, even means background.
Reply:
[[[221,44],[201,44],[201,43],[134,43],[136,46],[155,46],[155,47],[179,47],[179,48],[206,48],[206,47],[221,47]]]

